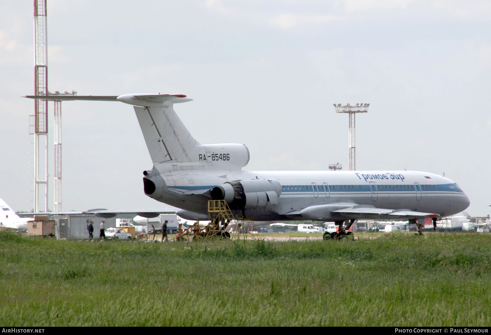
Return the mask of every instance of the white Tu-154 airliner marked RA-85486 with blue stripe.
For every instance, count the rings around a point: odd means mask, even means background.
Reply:
[[[358,218],[432,218],[464,211],[469,199],[452,180],[420,171],[246,171],[244,144],[201,144],[174,112],[185,95],[28,96],[53,100],[121,101],[134,106],[152,158],[143,172],[143,190],[157,201],[180,208],[186,219],[208,219],[208,200],[225,200],[234,215],[255,221],[324,220],[349,226]],[[96,215],[162,210],[101,211]],[[417,224],[421,233],[421,225]],[[348,228],[348,227],[347,227]],[[346,229],[346,228],[345,228]]]

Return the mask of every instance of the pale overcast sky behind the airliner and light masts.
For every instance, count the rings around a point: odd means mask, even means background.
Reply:
[[[49,89],[185,94],[175,110],[204,144],[246,144],[248,170],[421,170],[491,212],[491,1],[48,0]],[[30,210],[32,0],[0,0],[0,197]],[[63,102],[62,209],[162,208],[132,106]],[[53,103],[49,104],[53,209]]]

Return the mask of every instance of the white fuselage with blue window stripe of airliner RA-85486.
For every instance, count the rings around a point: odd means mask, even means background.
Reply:
[[[281,184],[277,206],[246,210],[254,220],[304,219],[292,213],[314,205],[353,203],[377,208],[453,215],[465,210],[469,199],[458,185],[442,176],[419,171],[224,171],[193,168],[169,171],[156,165],[166,184],[157,200],[196,213],[207,213],[207,198],[190,194],[232,180],[274,179]],[[184,200],[184,201],[183,201]],[[238,212],[238,211],[237,211]],[[328,218],[326,218],[328,219]],[[343,219],[333,215],[332,220]]]

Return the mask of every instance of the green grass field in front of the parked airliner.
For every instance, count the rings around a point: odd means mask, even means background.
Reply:
[[[491,235],[62,241],[0,232],[2,326],[490,326]]]

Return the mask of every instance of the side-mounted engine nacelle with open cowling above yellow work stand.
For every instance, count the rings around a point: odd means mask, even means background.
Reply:
[[[212,199],[225,200],[232,209],[262,209],[278,204],[281,184],[273,179],[247,179],[226,182],[211,191]]]

